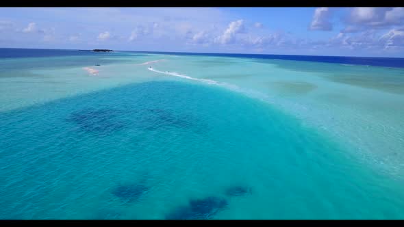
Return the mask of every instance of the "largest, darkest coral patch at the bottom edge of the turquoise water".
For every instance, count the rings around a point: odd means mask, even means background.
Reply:
[[[188,206],[180,206],[166,219],[210,219],[228,205],[227,200],[216,196],[190,200]]]

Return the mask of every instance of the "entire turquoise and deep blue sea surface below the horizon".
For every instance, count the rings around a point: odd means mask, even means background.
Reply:
[[[0,49],[0,219],[403,219],[403,116],[401,58]]]

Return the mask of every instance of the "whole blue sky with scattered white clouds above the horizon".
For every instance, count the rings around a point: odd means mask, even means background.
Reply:
[[[0,8],[0,47],[404,57],[404,8]]]

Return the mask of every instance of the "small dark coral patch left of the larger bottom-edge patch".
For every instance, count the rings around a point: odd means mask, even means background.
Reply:
[[[144,193],[149,191],[149,187],[139,184],[139,185],[120,185],[112,191],[114,196],[121,198],[123,202],[134,202],[139,200]]]

